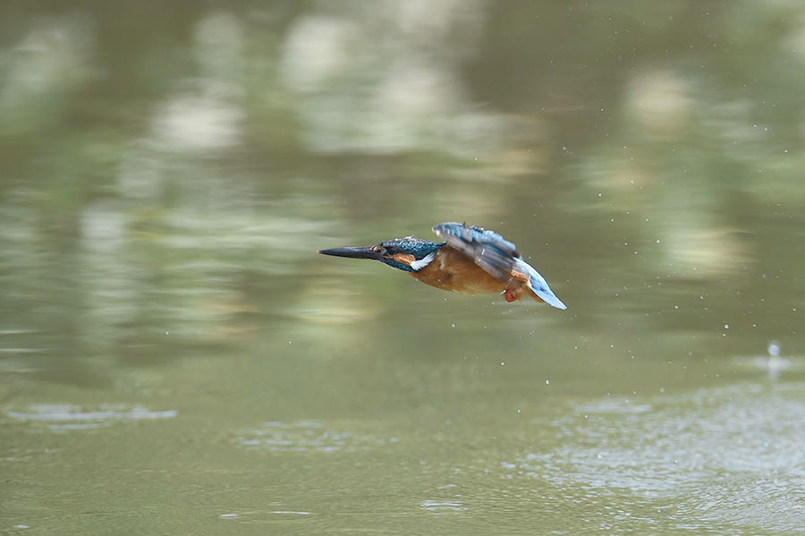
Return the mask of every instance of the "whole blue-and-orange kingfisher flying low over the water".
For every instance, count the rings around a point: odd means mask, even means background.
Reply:
[[[530,296],[558,309],[545,277],[522,259],[520,251],[494,231],[475,225],[445,222],[433,232],[445,242],[415,236],[394,238],[373,246],[319,250],[324,255],[379,260],[409,272],[422,283],[460,294],[504,294],[506,302]]]

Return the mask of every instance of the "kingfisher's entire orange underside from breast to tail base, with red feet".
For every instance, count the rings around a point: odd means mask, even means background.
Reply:
[[[506,293],[506,300],[513,302],[529,295],[542,302],[531,292],[529,279],[521,272],[513,271],[512,277],[502,281],[480,268],[461,251],[451,247],[443,247],[436,254],[436,259],[422,271],[411,274],[422,283],[460,294],[501,294]]]

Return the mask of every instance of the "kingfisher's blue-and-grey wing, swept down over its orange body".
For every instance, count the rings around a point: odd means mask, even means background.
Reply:
[[[482,227],[445,222],[434,225],[433,232],[501,281],[512,276],[514,259],[521,256],[512,242]]]

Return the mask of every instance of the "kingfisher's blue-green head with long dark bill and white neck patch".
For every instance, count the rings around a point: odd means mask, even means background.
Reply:
[[[320,250],[324,255],[351,259],[374,259],[405,272],[419,272],[436,258],[436,250],[444,243],[428,242],[414,236],[394,238],[374,246]]]

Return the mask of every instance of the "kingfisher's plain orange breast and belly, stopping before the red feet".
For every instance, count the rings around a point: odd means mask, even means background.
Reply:
[[[508,283],[487,273],[461,251],[449,246],[441,248],[436,259],[411,275],[426,285],[461,294],[500,294]]]

